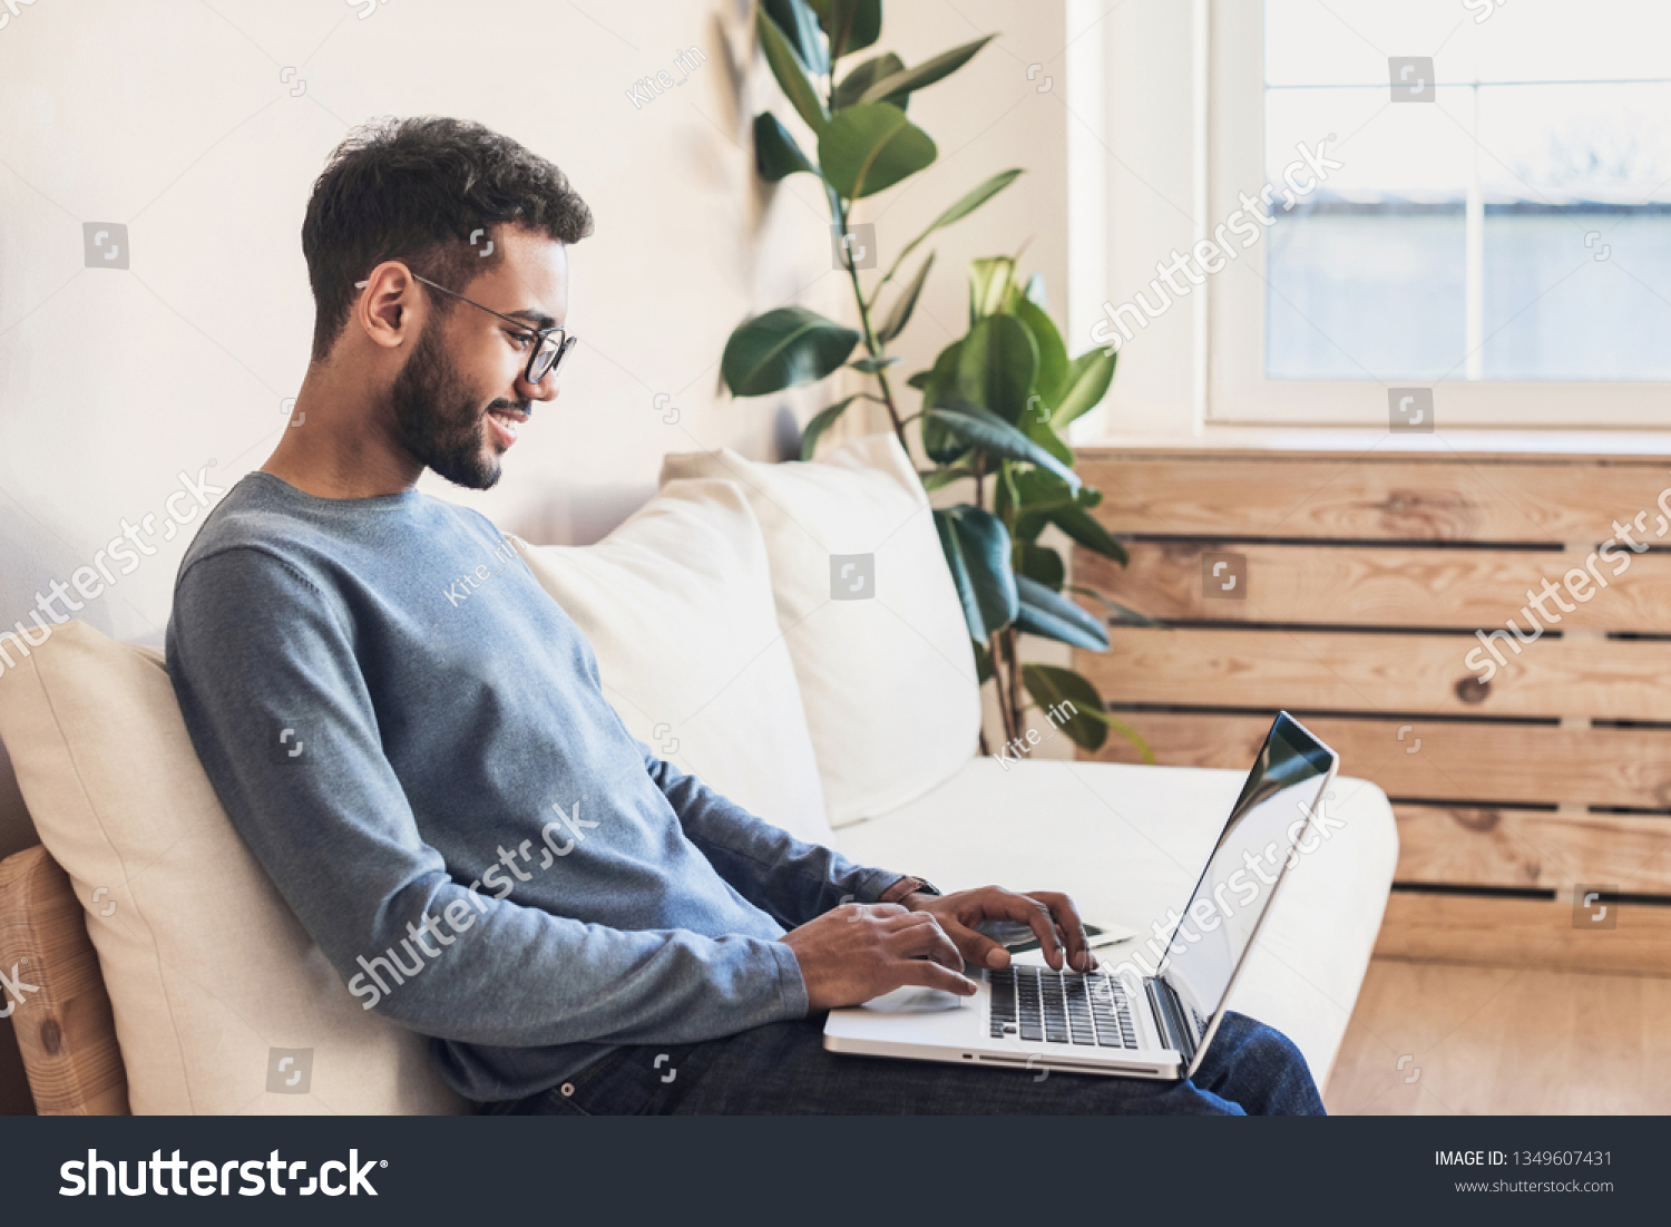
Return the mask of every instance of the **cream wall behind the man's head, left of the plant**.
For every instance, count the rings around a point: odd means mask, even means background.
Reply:
[[[38,0],[0,28],[0,622],[124,517],[160,520],[180,470],[229,486],[266,460],[312,326],[307,192],[373,115],[480,119],[551,157],[597,216],[571,252],[582,344],[561,400],[498,490],[426,488],[533,538],[592,540],[665,451],[774,455],[785,398],[719,393],[725,336],[780,303],[839,309],[842,286],[819,219],[755,182],[747,122],[777,87],[734,64],[752,64],[749,7],[361,8]],[[635,107],[632,82],[683,77],[687,47],[705,64]],[[84,267],[89,221],[127,224],[127,271]],[[77,617],[159,642],[190,532]]]

